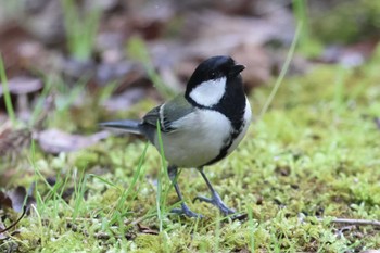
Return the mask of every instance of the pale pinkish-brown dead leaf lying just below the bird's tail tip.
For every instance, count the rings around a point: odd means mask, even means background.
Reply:
[[[47,129],[37,135],[37,140],[45,152],[58,154],[90,147],[109,136],[110,134],[107,131],[99,131],[91,136],[80,136],[59,129]]]

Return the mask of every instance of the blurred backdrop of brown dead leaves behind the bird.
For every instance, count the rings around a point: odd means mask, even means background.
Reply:
[[[183,89],[199,62],[215,54],[230,54],[245,64],[244,81],[251,90],[278,75],[300,22],[303,28],[290,75],[321,63],[360,65],[380,37],[380,3],[371,0],[0,4],[0,50],[12,101],[27,93],[30,102],[24,103],[26,107],[15,105],[24,121],[29,121],[28,111],[48,85],[59,93],[78,86],[90,92],[112,86],[101,104],[110,111],[127,110],[147,96],[160,99]],[[2,102],[0,110],[4,122]]]

